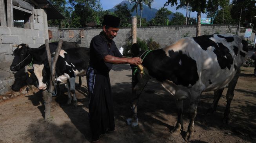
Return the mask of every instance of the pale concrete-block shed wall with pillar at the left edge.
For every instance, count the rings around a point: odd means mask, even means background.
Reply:
[[[31,48],[38,48],[48,38],[48,27],[45,27],[47,21],[45,23],[44,20],[45,17],[47,18],[45,11],[35,9],[34,17],[34,21],[29,23],[30,29],[0,26],[0,95],[5,95],[14,82],[14,74],[9,70],[14,57],[11,54],[16,49],[12,45],[26,43]]]

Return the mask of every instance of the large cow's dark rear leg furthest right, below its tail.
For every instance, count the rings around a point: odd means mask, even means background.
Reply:
[[[226,109],[225,109],[225,113],[224,113],[224,117],[223,117],[223,123],[229,124],[231,122],[231,118],[229,115],[230,114],[230,104],[234,97],[234,89],[236,87],[236,83],[238,81],[239,75],[240,75],[240,68],[237,69],[236,75],[231,80],[231,82],[229,82],[229,87],[227,89],[227,95],[226,95],[227,105],[226,105]]]

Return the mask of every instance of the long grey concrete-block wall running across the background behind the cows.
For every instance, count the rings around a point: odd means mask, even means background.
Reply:
[[[226,34],[228,29],[231,29],[231,34],[236,33],[236,26],[234,25],[201,25],[201,35],[204,34],[214,34],[216,32],[220,34]],[[233,27],[233,28],[232,28]],[[56,27],[49,27],[49,30],[53,33],[53,38],[50,41],[58,41],[58,39],[63,39],[64,41],[76,41],[78,38],[69,38],[69,30],[74,32],[74,36],[79,34],[81,29],[59,29]],[[98,35],[102,31],[101,28],[95,29],[84,29],[85,37],[78,39],[80,46],[89,47],[91,39]],[[64,38],[60,38],[61,32],[64,32]],[[245,30],[240,30],[240,36],[244,35]],[[190,37],[196,35],[196,25],[179,25],[179,26],[158,26],[158,27],[140,27],[137,28],[137,37],[149,41],[152,38],[154,41],[158,42],[161,47],[170,45],[175,41],[181,39],[186,34]],[[254,34],[252,38],[254,39]],[[131,40],[131,28],[120,28],[118,35],[114,38],[116,46],[120,48],[125,46],[126,42]]]

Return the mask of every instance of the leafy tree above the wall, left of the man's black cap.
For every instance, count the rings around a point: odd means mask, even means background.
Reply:
[[[98,12],[102,11],[100,0],[69,0],[69,3],[73,7],[71,27],[86,27],[87,22],[96,22]]]

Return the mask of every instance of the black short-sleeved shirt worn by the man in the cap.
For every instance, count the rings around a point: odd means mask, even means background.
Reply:
[[[106,55],[122,57],[113,40],[108,39],[105,32],[100,32],[94,36],[90,43],[90,66],[94,68],[96,73],[109,73],[112,69],[112,63],[104,62]]]

